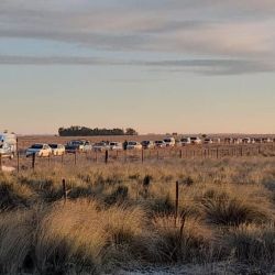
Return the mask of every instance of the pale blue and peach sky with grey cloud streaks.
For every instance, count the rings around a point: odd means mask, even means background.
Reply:
[[[0,131],[275,133],[274,0],[1,0]]]

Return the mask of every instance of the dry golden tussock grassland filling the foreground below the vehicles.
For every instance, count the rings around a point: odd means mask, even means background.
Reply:
[[[145,176],[152,178],[148,189]],[[275,272],[273,157],[84,162],[51,169],[45,164],[20,175],[0,173],[0,194],[3,274],[100,274],[174,264],[184,272],[185,264],[215,270],[221,263],[226,274],[232,266],[241,273],[239,263],[248,272]]]

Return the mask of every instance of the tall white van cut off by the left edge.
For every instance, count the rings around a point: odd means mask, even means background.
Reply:
[[[16,135],[0,133],[0,155],[1,157],[13,158],[16,153]]]

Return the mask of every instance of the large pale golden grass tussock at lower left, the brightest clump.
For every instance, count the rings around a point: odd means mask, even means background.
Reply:
[[[57,202],[40,223],[35,253],[42,270],[66,270],[69,263],[96,268],[106,244],[95,201]]]

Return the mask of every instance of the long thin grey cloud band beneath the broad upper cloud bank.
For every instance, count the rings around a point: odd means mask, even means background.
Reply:
[[[182,61],[116,61],[78,56],[0,56],[0,65],[33,66],[140,66],[145,69],[187,72],[200,75],[237,75],[274,72],[275,66],[261,61],[182,59]]]

